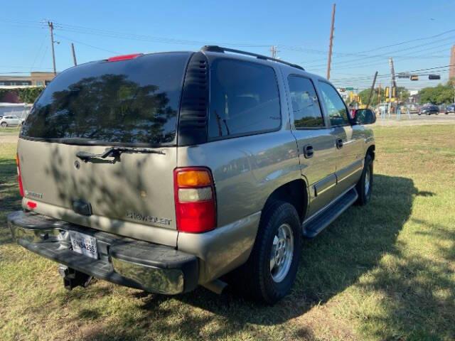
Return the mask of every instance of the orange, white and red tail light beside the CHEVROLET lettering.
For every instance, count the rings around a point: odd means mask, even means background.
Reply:
[[[215,228],[216,200],[208,168],[176,168],[173,172],[177,229],[200,233]]]

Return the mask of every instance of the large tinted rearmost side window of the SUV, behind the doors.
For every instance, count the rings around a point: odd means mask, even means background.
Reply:
[[[210,67],[211,138],[254,134],[281,125],[277,78],[272,67],[219,59]]]

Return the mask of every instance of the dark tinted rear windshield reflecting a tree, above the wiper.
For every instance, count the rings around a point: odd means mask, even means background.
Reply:
[[[158,53],[62,72],[35,103],[21,136],[67,143],[172,144],[190,55]]]

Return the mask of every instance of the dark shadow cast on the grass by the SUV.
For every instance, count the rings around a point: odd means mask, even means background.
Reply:
[[[327,303],[333,296],[357,283],[360,276],[377,267],[385,254],[399,253],[397,236],[410,218],[414,197],[434,195],[428,192],[420,193],[409,178],[387,175],[375,175],[374,188],[372,200],[367,206],[350,207],[316,239],[304,241],[304,251],[294,288],[291,294],[277,305],[271,307],[252,303],[231,291],[218,296],[204,288],[174,296],[181,303],[209,312],[209,314],[196,315],[166,308],[168,301],[173,300],[168,296],[134,293],[134,297],[140,301],[144,314],[139,319],[131,317],[131,319],[120,320],[119,324],[140,325],[144,328],[144,333],[140,331],[141,328],[135,328],[131,334],[125,333],[124,330],[127,328],[109,325],[102,331],[90,333],[87,340],[105,339],[114,335],[118,337],[119,330],[122,330],[122,339],[134,340],[146,335],[148,328],[159,328],[166,334],[178,330],[180,335],[191,339],[197,338],[202,330],[206,330],[208,324],[217,319],[218,324],[224,327],[218,326],[209,335],[206,331],[203,332],[205,337],[213,340],[250,328],[251,324],[285,323],[287,320],[304,315],[315,305]],[[387,272],[380,271],[378,276],[387,276]],[[241,281],[241,278],[239,280]],[[383,278],[377,278],[378,287],[382,282]],[[419,285],[419,283],[416,281],[412,285]],[[402,310],[390,311],[387,323],[394,323],[394,314],[401,313],[403,313]],[[172,325],[169,325],[167,321],[172,316],[175,316],[175,320]],[[219,320],[223,320],[223,323]],[[160,323],[164,325],[157,327]],[[311,328],[304,323],[298,325],[297,330],[291,332],[291,338],[311,340],[313,338]],[[267,335],[257,335],[257,337],[266,340],[269,338]]]

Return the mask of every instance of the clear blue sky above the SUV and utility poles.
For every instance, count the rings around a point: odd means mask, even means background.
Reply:
[[[319,1],[2,1],[0,74],[51,71],[47,21],[55,23],[57,70],[129,53],[198,50],[225,45],[270,55],[326,75],[333,0]],[[410,90],[437,85],[424,74],[448,78],[455,44],[455,1],[336,1],[331,81],[337,87],[382,86],[395,72],[415,71],[419,81],[397,80]],[[392,45],[392,46],[390,46]],[[19,74],[18,74],[19,75]]]

